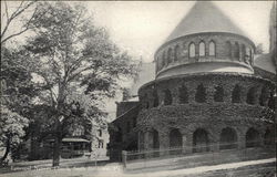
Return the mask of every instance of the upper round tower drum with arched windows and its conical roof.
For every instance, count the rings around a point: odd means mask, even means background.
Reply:
[[[155,53],[156,79],[253,74],[255,44],[213,2],[197,1]]]

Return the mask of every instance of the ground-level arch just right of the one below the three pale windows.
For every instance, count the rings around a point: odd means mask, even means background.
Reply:
[[[230,149],[236,147],[237,147],[236,131],[230,127],[222,129],[219,149]]]

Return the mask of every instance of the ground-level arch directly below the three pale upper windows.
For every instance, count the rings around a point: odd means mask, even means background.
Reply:
[[[208,152],[208,133],[205,129],[198,128],[193,133],[193,152]]]

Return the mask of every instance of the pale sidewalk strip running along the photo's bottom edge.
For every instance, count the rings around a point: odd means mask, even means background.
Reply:
[[[236,169],[246,166],[255,166],[276,163],[276,158],[259,159],[259,160],[248,160],[230,164],[220,164],[214,166],[201,166],[186,169],[175,169],[175,170],[163,170],[153,173],[141,173],[141,174],[129,174],[123,171],[120,164],[106,164],[101,167],[81,167],[81,168],[60,168],[60,169],[40,169],[40,170],[25,170],[10,174],[2,174],[0,177],[189,177],[205,174],[208,171],[224,170],[224,169]],[[255,167],[254,167],[255,169]]]

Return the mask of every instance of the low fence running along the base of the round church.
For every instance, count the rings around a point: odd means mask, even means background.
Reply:
[[[246,159],[273,157],[274,144],[261,146],[258,142],[248,142],[246,148],[238,148],[239,143],[212,144],[166,149],[123,152],[122,162],[126,168],[151,168],[155,166],[197,166],[199,164],[219,164]],[[178,162],[178,163],[175,163]]]

